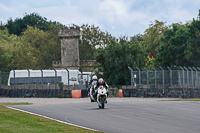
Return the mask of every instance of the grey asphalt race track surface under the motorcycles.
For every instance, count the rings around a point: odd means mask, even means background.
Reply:
[[[106,133],[199,133],[200,103],[171,101],[12,106]]]

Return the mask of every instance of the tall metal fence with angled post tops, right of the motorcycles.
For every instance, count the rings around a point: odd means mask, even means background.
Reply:
[[[166,89],[166,88],[196,88],[200,89],[200,68],[178,67],[172,70],[167,67],[143,70],[136,67],[137,71],[131,70],[131,88],[143,89]]]

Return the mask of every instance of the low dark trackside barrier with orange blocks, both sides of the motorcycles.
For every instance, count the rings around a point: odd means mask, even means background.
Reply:
[[[200,98],[200,89],[119,89],[117,94],[119,97]],[[59,89],[0,89],[0,97],[72,98],[72,95],[73,98],[83,98],[88,97],[88,92]]]

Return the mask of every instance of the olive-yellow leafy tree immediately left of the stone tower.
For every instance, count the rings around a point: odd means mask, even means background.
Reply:
[[[57,28],[44,32],[28,26],[21,43],[17,46],[12,65],[18,69],[49,69],[52,61],[60,60],[60,40],[55,34]]]

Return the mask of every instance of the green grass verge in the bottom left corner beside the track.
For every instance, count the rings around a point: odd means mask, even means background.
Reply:
[[[6,105],[30,105],[29,103],[0,103],[0,133],[94,133],[40,116],[6,108]],[[100,133],[100,132],[95,132]]]

